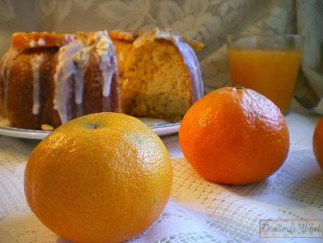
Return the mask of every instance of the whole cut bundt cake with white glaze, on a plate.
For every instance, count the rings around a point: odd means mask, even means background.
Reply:
[[[0,114],[32,129],[100,111],[177,121],[203,96],[201,47],[158,29],[15,33],[0,63]]]

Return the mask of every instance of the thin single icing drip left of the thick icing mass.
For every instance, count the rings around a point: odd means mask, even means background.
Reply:
[[[34,115],[38,115],[39,108],[40,108],[40,94],[39,94],[39,74],[40,74],[40,66],[44,61],[44,56],[42,54],[34,56],[30,60],[30,66],[32,67],[32,77],[33,77],[33,89],[32,89],[32,98],[33,98],[33,105],[32,105],[32,113]]]

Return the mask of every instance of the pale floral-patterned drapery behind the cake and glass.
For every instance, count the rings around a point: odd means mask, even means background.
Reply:
[[[205,90],[230,85],[227,33],[305,37],[294,96],[323,114],[323,0],[1,0],[0,54],[15,31],[151,30],[170,27],[205,44]]]

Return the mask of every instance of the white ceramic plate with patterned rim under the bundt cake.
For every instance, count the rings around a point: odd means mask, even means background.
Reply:
[[[139,119],[146,123],[148,127],[151,127],[151,129],[156,132],[158,136],[171,135],[178,132],[179,130],[179,123],[167,123],[165,120],[158,120],[153,118]],[[49,133],[51,133],[51,131],[10,127],[8,124],[8,120],[0,120],[0,135],[41,140],[49,135]]]

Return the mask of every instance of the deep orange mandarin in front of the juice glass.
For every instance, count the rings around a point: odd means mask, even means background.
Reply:
[[[187,111],[179,144],[206,180],[244,185],[265,180],[284,163],[289,131],[279,108],[265,96],[243,87],[224,87]]]

